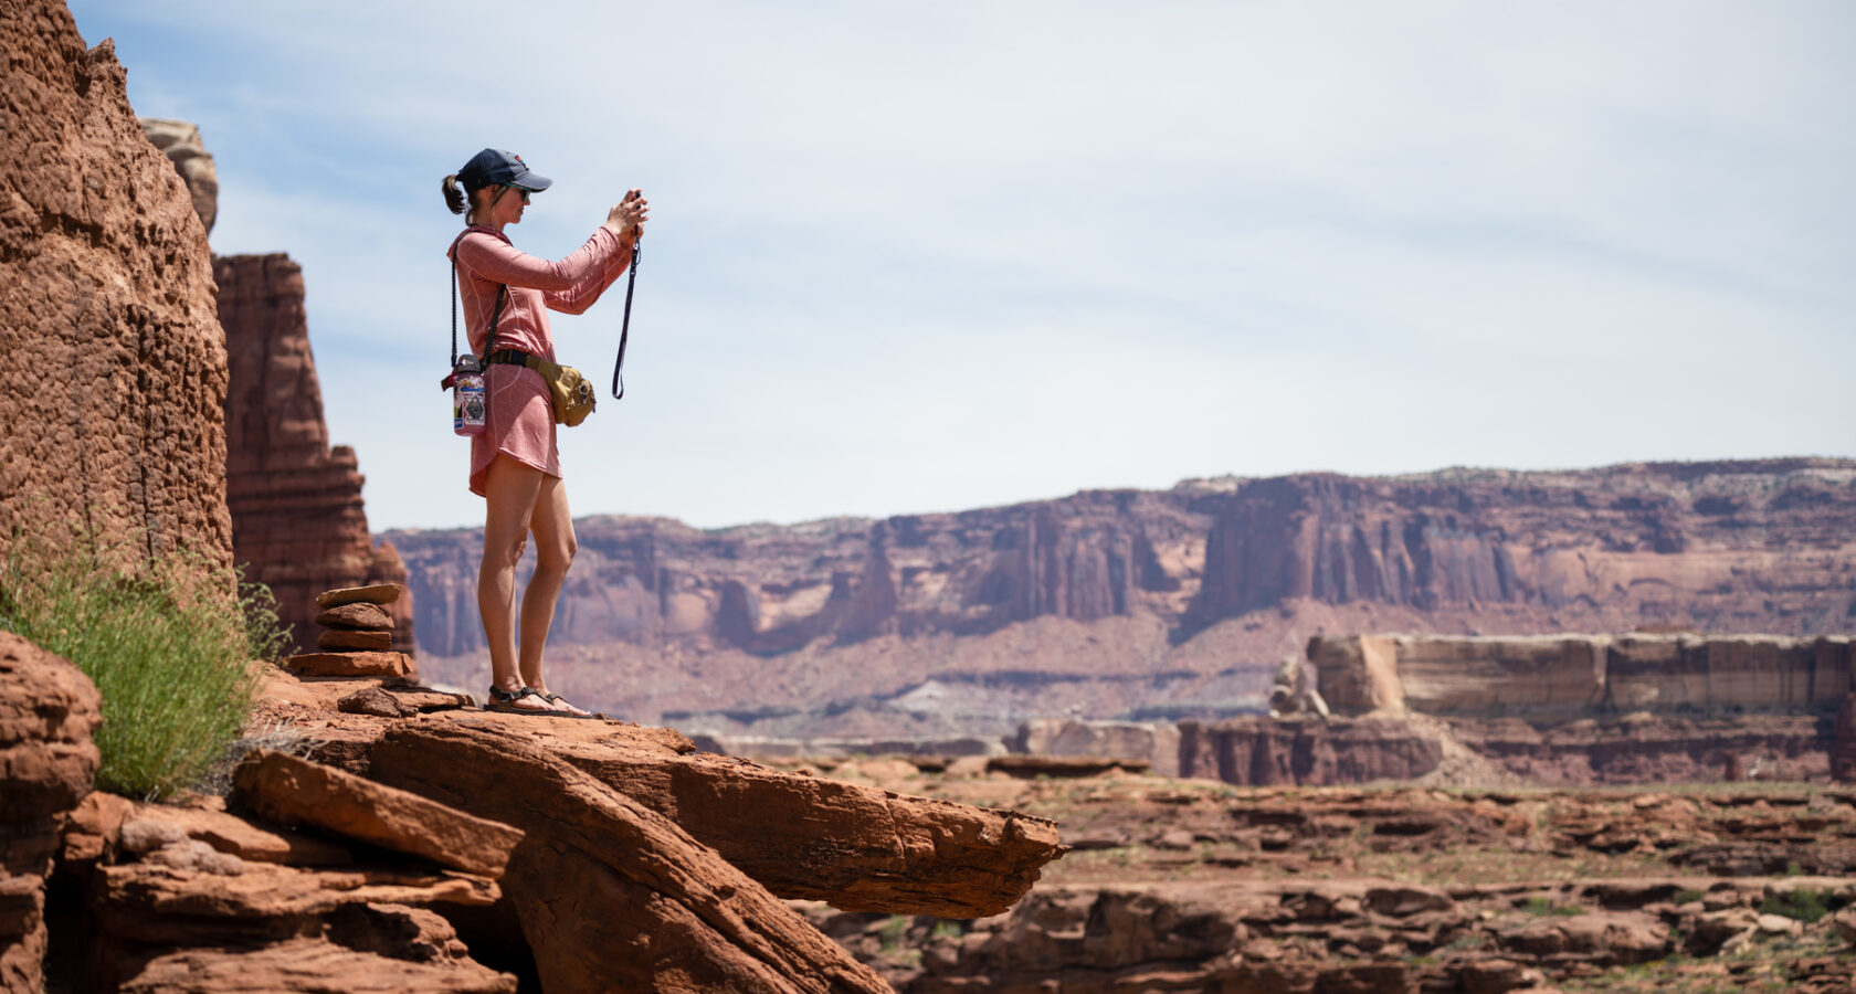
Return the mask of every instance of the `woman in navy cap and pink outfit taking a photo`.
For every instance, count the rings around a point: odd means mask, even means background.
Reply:
[[[470,211],[464,234],[447,254],[457,261],[458,297],[477,356],[492,349],[488,326],[496,313],[496,345],[484,369],[488,425],[470,443],[470,488],[484,499],[483,569],[477,573],[477,610],[490,642],[490,701],[484,707],[592,718],[549,692],[542,675],[548,625],[574,562],[574,521],[561,484],[548,384],[505,352],[535,352],[553,362],[548,310],[581,313],[625,273],[648,202],[637,189],[625,193],[586,245],[561,261],[548,261],[516,250],[503,228],[522,223],[529,195],[549,184],[553,180],[531,172],[522,156],[499,148],[471,156],[444,182],[451,213]],[[516,562],[531,532],[535,575],[522,595],[518,656]]]

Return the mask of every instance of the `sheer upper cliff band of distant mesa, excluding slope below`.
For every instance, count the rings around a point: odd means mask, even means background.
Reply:
[[[1182,642],[1294,601],[1433,618],[1444,631],[1856,625],[1852,460],[1314,473],[882,521],[696,530],[590,517],[575,529],[581,558],[555,629],[574,644],[685,638],[778,655],[820,638],[1114,616],[1156,618]],[[427,649],[479,649],[460,593],[475,577],[475,530],[388,538],[406,556]]]

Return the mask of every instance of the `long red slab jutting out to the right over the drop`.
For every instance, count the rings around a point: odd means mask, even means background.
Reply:
[[[542,720],[512,721],[542,733]],[[1065,851],[1056,825],[1043,818],[906,797],[733,757],[562,738],[594,721],[546,725],[553,755],[674,818],[781,898],[891,914],[999,914],[1036,883],[1045,862]],[[455,783],[457,749],[475,734],[458,727],[392,729],[369,753],[369,775],[507,820],[492,812],[499,809],[475,807],[497,792]]]

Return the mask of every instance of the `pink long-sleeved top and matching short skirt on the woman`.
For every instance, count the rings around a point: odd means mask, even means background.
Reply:
[[[549,362],[555,362],[555,339],[548,312],[585,312],[631,263],[631,252],[607,228],[598,228],[586,245],[561,261],[522,252],[496,228],[475,224],[458,236],[451,252],[458,263],[458,299],[471,350],[484,354],[496,293],[509,286],[496,321],[496,349],[522,349]],[[561,477],[555,415],[542,375],[497,363],[484,371],[484,393],[488,425],[470,445],[471,493],[483,495],[483,482],[496,456]]]

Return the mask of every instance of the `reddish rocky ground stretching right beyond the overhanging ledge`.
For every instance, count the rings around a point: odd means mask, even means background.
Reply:
[[[1856,990],[1856,792],[818,773],[1052,818],[1010,912],[804,911],[904,992]],[[995,764],[997,766],[997,764]]]

